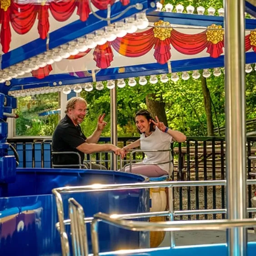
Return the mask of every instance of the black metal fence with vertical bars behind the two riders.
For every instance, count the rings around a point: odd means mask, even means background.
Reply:
[[[138,138],[118,138],[118,146],[126,146]],[[20,156],[19,167],[23,168],[50,168],[51,167],[51,145],[50,141],[35,141],[33,139],[9,140]],[[100,143],[109,143],[110,138],[101,138]],[[185,143],[174,143],[172,156],[174,164],[173,180],[178,181],[200,181],[200,180],[224,180],[226,179],[226,143],[224,137],[190,137]],[[247,137],[246,143],[246,169],[247,179],[250,172],[254,171],[255,163],[248,156],[256,155],[256,137]],[[10,151],[10,154],[12,152]],[[100,162],[100,153],[94,156],[96,162]],[[134,160],[142,159],[144,154],[134,155]],[[87,156],[89,160],[89,156]],[[110,154],[102,153],[101,161],[110,168]],[[231,170],[232,171],[232,170]],[[247,187],[248,207],[251,207],[251,197],[255,188]],[[213,187],[181,187],[175,191],[175,211],[192,209],[224,209],[226,208],[226,188],[224,186]],[[219,219],[225,218],[225,214],[179,216],[180,219]],[[251,217],[251,213],[249,213]]]

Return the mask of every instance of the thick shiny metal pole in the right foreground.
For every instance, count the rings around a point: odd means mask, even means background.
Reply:
[[[227,216],[246,218],[245,18],[244,0],[225,1]],[[227,231],[228,254],[243,256],[246,229]]]

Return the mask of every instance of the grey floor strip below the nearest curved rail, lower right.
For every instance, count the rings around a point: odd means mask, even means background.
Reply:
[[[248,230],[248,241],[256,241],[256,234],[253,230]],[[226,243],[226,231],[176,231],[176,246],[202,245]],[[170,246],[170,233],[166,232],[164,241],[159,247]]]

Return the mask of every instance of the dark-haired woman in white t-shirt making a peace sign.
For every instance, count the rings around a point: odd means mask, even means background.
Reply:
[[[140,110],[135,116],[136,127],[141,134],[141,138],[131,144],[123,147],[123,150],[129,150],[141,146],[141,150],[168,150],[171,149],[171,143],[173,141],[184,142],[186,136],[179,132],[173,131],[166,127],[163,122],[158,120],[156,116],[156,122],[151,117],[151,114],[147,110]],[[170,152],[146,152],[146,157],[141,163],[146,165],[132,165],[131,172],[141,174],[147,177],[160,177],[167,175],[170,170],[170,164],[168,163]],[[163,163],[157,164],[153,163]],[[141,164],[140,163],[140,164]],[[152,163],[152,165],[150,165]],[[125,167],[125,171],[130,171],[130,166]],[[173,166],[171,165],[171,172]]]

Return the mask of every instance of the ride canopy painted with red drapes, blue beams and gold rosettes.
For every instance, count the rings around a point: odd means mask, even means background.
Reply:
[[[108,4],[114,25],[95,17],[106,17]],[[145,0],[1,1],[2,92],[224,66],[224,9],[161,8]],[[255,29],[246,19],[247,64],[256,62]]]

